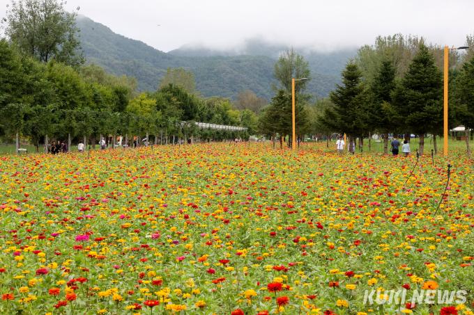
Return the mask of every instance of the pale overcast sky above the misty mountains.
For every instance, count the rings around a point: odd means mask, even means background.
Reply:
[[[0,17],[8,3],[0,0]],[[238,47],[256,37],[328,51],[395,33],[452,47],[474,33],[473,0],[68,0],[66,9],[77,6],[79,14],[162,51]]]

